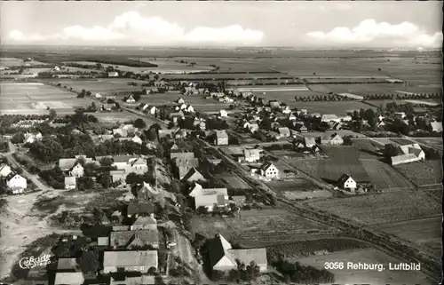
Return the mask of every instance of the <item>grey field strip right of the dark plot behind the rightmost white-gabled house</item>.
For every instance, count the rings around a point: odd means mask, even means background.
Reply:
[[[369,174],[371,183],[373,183],[378,190],[403,191],[415,188],[407,178],[394,170],[391,165],[375,159],[361,160],[361,163],[364,170]]]

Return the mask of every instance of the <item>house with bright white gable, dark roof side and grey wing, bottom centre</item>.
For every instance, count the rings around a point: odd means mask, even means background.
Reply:
[[[233,249],[231,244],[220,235],[211,239],[208,243],[210,266],[213,270],[227,272],[237,269],[238,261],[250,265],[254,261],[261,273],[267,271],[266,249]]]

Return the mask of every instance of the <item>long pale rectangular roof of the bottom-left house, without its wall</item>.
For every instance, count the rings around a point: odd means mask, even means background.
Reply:
[[[157,250],[105,251],[103,266],[147,266],[157,268]]]

